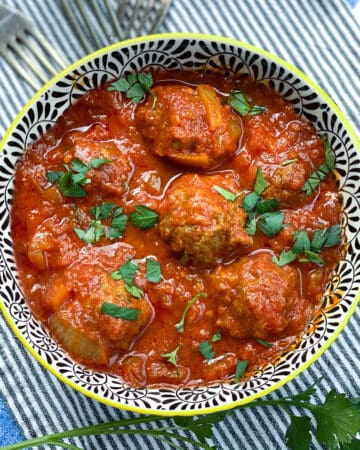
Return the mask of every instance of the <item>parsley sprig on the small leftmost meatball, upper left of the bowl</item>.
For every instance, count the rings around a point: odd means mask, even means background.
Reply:
[[[90,169],[98,169],[103,164],[111,162],[106,158],[92,159],[89,164],[85,164],[79,158],[71,161],[70,165],[64,164],[66,172],[49,171],[46,173],[47,180],[55,184],[57,183],[66,197],[86,197],[86,191],[82,188],[84,184],[91,183],[87,178]]]

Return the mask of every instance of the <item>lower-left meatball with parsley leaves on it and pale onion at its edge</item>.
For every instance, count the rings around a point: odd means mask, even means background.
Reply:
[[[54,277],[45,302],[55,311],[50,328],[57,340],[74,356],[95,364],[108,364],[111,357],[128,350],[152,316],[145,299],[132,297],[122,280],[115,281],[98,266],[77,265]],[[139,311],[135,321],[100,312],[103,303]]]

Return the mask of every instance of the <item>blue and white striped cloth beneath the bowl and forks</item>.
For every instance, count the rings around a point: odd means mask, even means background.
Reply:
[[[81,56],[58,2],[8,0],[7,4],[31,17],[69,61]],[[173,0],[158,31],[224,35],[269,50],[319,84],[359,131],[360,19],[355,13],[359,5],[356,0]],[[0,61],[0,137],[32,93]],[[0,445],[22,435],[29,438],[132,416],[91,400],[50,375],[22,347],[2,317],[0,330]],[[294,394],[320,378],[322,396],[335,388],[359,397],[359,342],[358,309],[317,362],[269,397]],[[219,449],[285,449],[287,425],[279,410],[234,411],[217,426],[216,444]],[[85,449],[165,448],[151,438],[137,436],[86,438],[74,444]]]

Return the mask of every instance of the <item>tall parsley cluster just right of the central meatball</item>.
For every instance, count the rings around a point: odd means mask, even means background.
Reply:
[[[257,225],[268,237],[274,237],[282,229],[284,213],[279,211],[280,203],[277,199],[264,200],[261,194],[268,184],[260,167],[257,168],[253,191],[245,195],[242,207],[248,214],[245,231],[254,236]]]

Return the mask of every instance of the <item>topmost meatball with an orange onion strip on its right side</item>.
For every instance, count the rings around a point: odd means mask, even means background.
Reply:
[[[151,150],[177,164],[209,168],[233,155],[241,118],[222,105],[213,87],[157,86],[136,111],[137,126]]]

